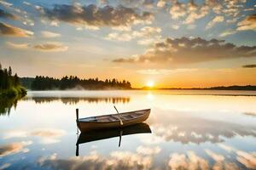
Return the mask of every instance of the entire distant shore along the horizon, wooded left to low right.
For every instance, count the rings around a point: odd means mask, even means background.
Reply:
[[[210,88],[132,88],[131,82],[118,81],[117,79],[98,78],[79,79],[79,77],[20,77],[21,86],[26,89],[45,91],[45,90],[247,90],[256,91],[256,85],[232,85],[218,86]]]

